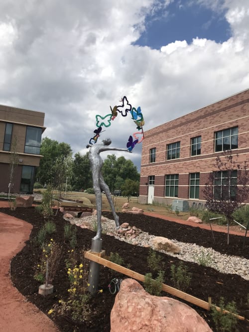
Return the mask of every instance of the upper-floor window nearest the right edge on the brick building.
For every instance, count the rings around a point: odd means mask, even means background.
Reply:
[[[238,148],[238,127],[233,127],[215,133],[215,152]]]

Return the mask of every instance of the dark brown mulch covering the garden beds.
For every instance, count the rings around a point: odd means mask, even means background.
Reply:
[[[63,219],[62,214],[53,217],[56,223],[56,232],[52,235],[54,241],[61,243],[64,247],[64,257],[60,261],[58,273],[53,281],[54,293],[43,297],[38,295],[38,287],[40,283],[34,280],[34,267],[37,265],[41,249],[35,243],[34,238],[37,232],[44,224],[43,218],[34,208],[17,208],[16,211],[1,208],[0,212],[12,215],[24,221],[28,221],[33,225],[30,239],[26,242],[26,246],[18,253],[11,262],[11,279],[14,286],[28,299],[34,303],[45,314],[58,304],[59,299],[67,299],[69,280],[65,268],[65,259],[68,257],[68,251],[71,250],[69,243],[64,238],[64,225],[68,222]],[[104,216],[110,217],[111,214],[103,213]],[[196,243],[205,247],[212,247],[221,253],[229,255],[238,255],[249,258],[249,239],[247,238],[244,250],[243,237],[237,235],[230,235],[231,244],[227,246],[227,235],[223,233],[214,232],[216,243],[213,241],[211,231],[201,229],[199,227],[191,227],[187,225],[178,224],[172,221],[164,221],[158,218],[152,218],[144,215],[127,215],[120,214],[120,221],[129,222],[141,228],[150,234],[160,235],[182,242]],[[114,223],[115,227],[115,223]],[[92,237],[95,232],[77,227],[77,247],[79,251],[83,248],[90,249]],[[48,239],[51,235],[48,235]],[[103,249],[106,254],[111,252],[118,252],[124,259],[125,265],[130,264],[129,268],[138,273],[145,274],[149,271],[147,266],[147,257],[149,248],[133,246],[123,241],[119,241],[112,236],[103,234]],[[180,260],[172,256],[159,253],[165,263],[165,284],[172,285],[170,279],[170,265],[179,264]],[[249,319],[249,303],[248,290],[249,281],[241,278],[236,274],[223,274],[212,268],[200,266],[195,263],[184,262],[188,270],[192,273],[190,287],[186,290],[191,294],[204,301],[208,301],[208,296],[212,297],[212,303],[219,304],[220,298],[224,297],[225,303],[235,301],[239,315]],[[61,331],[110,331],[110,313],[114,305],[115,296],[109,293],[108,285],[115,272],[101,266],[99,289],[103,289],[103,293],[98,293],[90,300],[90,318],[84,323],[73,322],[70,317],[52,315],[50,317]],[[125,277],[125,276],[123,276]],[[154,275],[155,277],[155,275]],[[170,296],[167,293],[162,293],[163,296]],[[194,308],[209,324],[209,326],[216,330],[212,321],[210,312],[203,310],[194,305]],[[237,331],[249,331],[248,321],[238,321]]]

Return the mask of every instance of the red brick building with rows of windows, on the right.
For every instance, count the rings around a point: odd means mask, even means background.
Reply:
[[[249,90],[144,132],[140,203],[205,203],[215,159],[230,149],[249,163]],[[219,178],[222,186],[225,172]]]

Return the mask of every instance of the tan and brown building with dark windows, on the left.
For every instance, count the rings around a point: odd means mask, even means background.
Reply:
[[[42,112],[0,105],[0,192],[32,193],[35,167],[41,159]],[[16,163],[13,151],[16,150]],[[10,184],[12,164],[16,165]]]

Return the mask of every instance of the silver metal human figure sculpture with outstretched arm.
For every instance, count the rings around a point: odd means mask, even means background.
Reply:
[[[116,223],[116,228],[119,229],[119,227],[120,227],[119,216],[115,212],[110,189],[109,189],[108,185],[105,183],[105,181],[103,179],[103,175],[101,173],[101,169],[103,166],[103,160],[100,156],[100,153],[103,151],[108,151],[108,150],[127,151],[127,152],[130,152],[130,151],[128,149],[124,149],[124,148],[109,147],[109,145],[111,143],[112,143],[111,139],[106,138],[106,139],[103,139],[103,141],[101,143],[87,145],[87,148],[90,147],[88,157],[89,157],[89,160],[91,163],[91,168],[92,168],[93,187],[94,187],[94,191],[95,191],[96,209],[97,209],[97,234],[93,238],[94,240],[99,240],[101,238],[101,232],[102,232],[102,225],[101,225],[101,214],[102,214],[102,194],[101,194],[101,192],[102,191],[105,192],[107,200],[112,209],[114,220]]]

